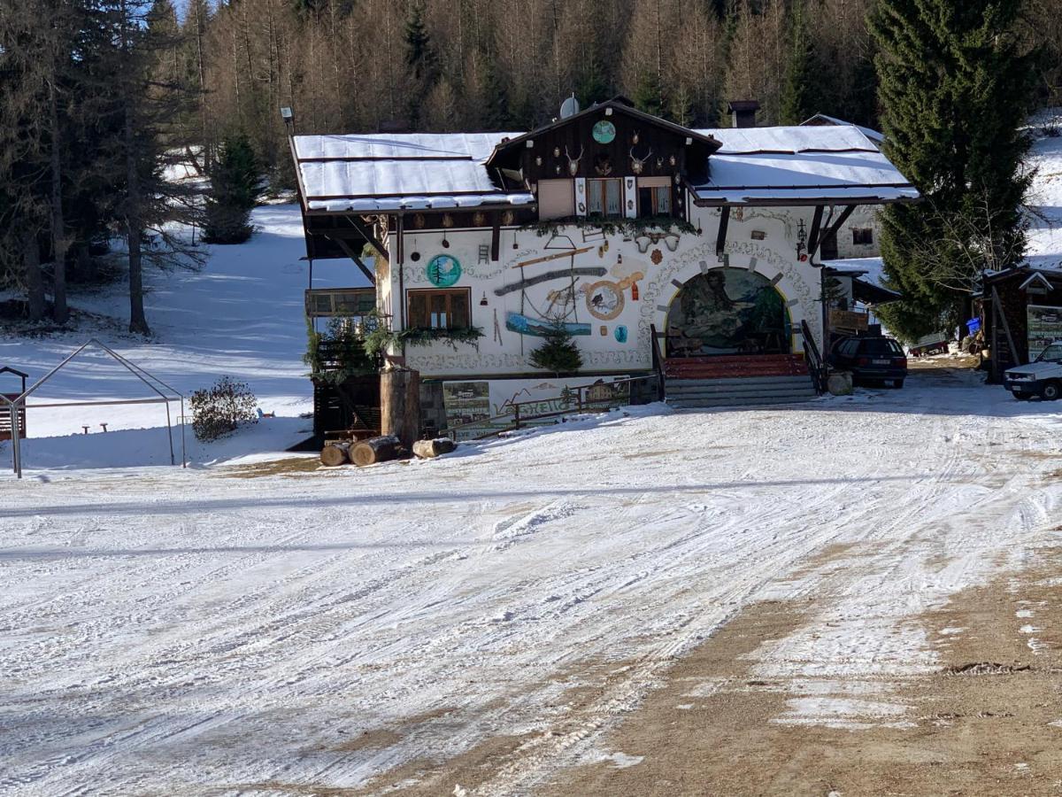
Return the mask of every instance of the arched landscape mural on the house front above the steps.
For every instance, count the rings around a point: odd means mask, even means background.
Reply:
[[[790,354],[791,321],[771,281],[718,268],[687,281],[671,301],[668,357]]]

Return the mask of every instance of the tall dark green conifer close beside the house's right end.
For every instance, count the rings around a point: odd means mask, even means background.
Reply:
[[[1031,175],[1022,172],[1021,130],[1032,99],[1030,56],[1017,38],[1022,0],[881,0],[871,18],[886,153],[922,191],[922,205],[884,215],[886,273],[905,294],[883,308],[897,334],[915,338],[958,321],[979,276],[962,258],[975,247],[956,231],[991,223],[984,264],[1024,249],[1021,205]],[[986,268],[987,266],[982,266]],[[945,275],[948,278],[945,278]]]

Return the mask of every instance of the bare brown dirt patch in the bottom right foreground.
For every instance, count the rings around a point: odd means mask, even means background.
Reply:
[[[637,764],[598,760],[562,770],[536,794],[1062,794],[1062,584],[1051,578],[1062,548],[1041,549],[1034,562],[920,618],[939,672],[883,683],[873,695],[839,695],[839,680],[820,697],[810,684],[803,698],[829,700],[835,712],[851,703],[862,718],[872,703],[906,706],[902,722],[777,722],[800,686],[754,677],[749,655],[810,613],[757,604],[681,661],[599,743]]]

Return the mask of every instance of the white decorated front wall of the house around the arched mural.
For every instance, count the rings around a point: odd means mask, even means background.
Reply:
[[[575,338],[583,355],[583,372],[606,374],[649,370],[652,367],[650,325],[655,325],[660,333],[665,333],[668,307],[680,286],[703,271],[723,266],[750,269],[768,279],[777,277],[776,288],[788,303],[792,322],[792,351],[803,350],[803,341],[799,335],[802,320],[808,322],[821,349],[819,270],[808,262],[799,261],[796,253],[798,221],[803,219],[805,228],[809,230],[811,215],[811,208],[744,208],[740,213],[732,211],[726,256],[722,260],[716,255],[720,213],[715,208],[693,209],[692,223],[695,226],[700,224],[702,234],[680,235],[673,252],[663,240],[650,243],[641,252],[637,241],[624,240],[622,235],[602,237],[578,227],[563,230],[562,233],[577,248],[590,248],[576,256],[575,267],[594,268],[603,272],[600,275],[576,278],[576,316],[579,322],[590,325],[589,335]],[[754,231],[764,233],[764,240],[753,239]],[[443,342],[428,346],[407,346],[407,363],[421,371],[425,377],[542,373],[536,372],[528,362],[529,352],[539,345],[542,338],[521,336],[506,326],[508,313],[521,311],[521,292],[513,290],[504,295],[497,295],[496,290],[517,283],[524,276],[567,270],[569,260],[565,257],[523,269],[517,266],[521,261],[560,252],[547,248],[550,243],[549,236],[539,237],[534,231],[503,230],[498,261],[480,262],[478,258],[480,244],[489,245],[491,242],[489,230],[451,230],[446,232],[446,239],[448,248],[442,245],[442,233],[407,235],[406,262],[401,267],[404,287],[406,290],[434,287],[426,273],[430,259],[438,254],[456,257],[461,264],[462,273],[453,287],[470,288],[472,323],[482,328],[484,336],[480,339],[478,351],[461,343],[457,344],[456,350]],[[421,255],[416,261],[412,259],[414,252]],[[653,262],[654,252],[660,253],[658,262]],[[393,258],[388,281],[390,285],[381,285],[380,289],[381,298],[391,292],[395,296],[391,309],[395,328],[399,326],[400,319],[397,287],[399,267],[396,264],[396,258]],[[641,276],[637,277],[639,273]],[[637,284],[637,301],[632,300],[632,279]],[[596,318],[587,305],[586,294],[580,291],[581,287],[588,287],[599,281],[623,286],[623,307],[614,319]],[[550,292],[568,285],[568,279],[552,279],[528,288],[524,296],[525,315],[533,318],[544,315],[550,302]],[[484,298],[485,305],[481,304]],[[568,319],[572,320],[575,319]],[[616,335],[616,329],[620,326],[627,329],[627,338],[622,342]],[[601,334],[602,328],[604,335]],[[663,341],[661,345],[663,349]]]

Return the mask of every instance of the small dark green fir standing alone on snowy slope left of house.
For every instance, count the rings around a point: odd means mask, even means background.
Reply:
[[[258,198],[259,176],[251,140],[244,135],[224,139],[210,172],[206,202],[207,243],[242,243],[251,237],[251,210]]]

